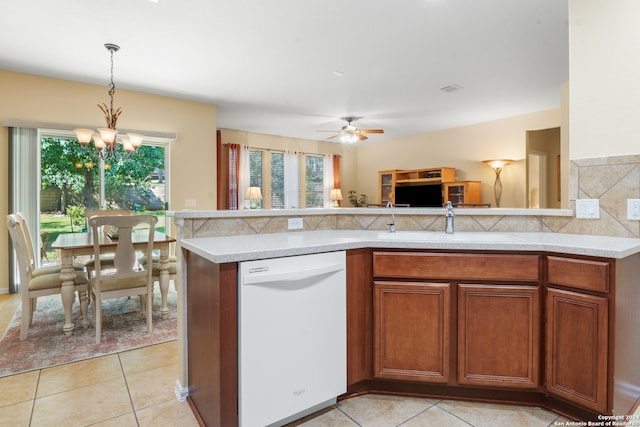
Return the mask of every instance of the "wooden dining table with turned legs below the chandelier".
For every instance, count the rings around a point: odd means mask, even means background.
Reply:
[[[132,235],[134,248],[141,250],[146,248],[149,233],[146,230],[135,230]],[[160,314],[166,317],[169,313],[167,307],[167,294],[169,292],[169,245],[176,240],[164,233],[155,232],[153,238],[153,249],[160,250],[160,293],[162,294],[162,308]],[[102,253],[115,252],[117,240],[111,240],[107,235],[100,234],[100,251]],[[62,306],[64,307],[64,326],[62,330],[65,335],[73,333],[75,325],[71,321],[71,308],[75,301],[73,291],[73,279],[75,278],[73,262],[76,257],[93,255],[93,232],[90,230],[83,233],[60,234],[51,244],[51,248],[60,254],[60,279],[62,280]],[[80,303],[86,304],[88,295],[80,295]],[[84,326],[88,324],[87,319],[83,319]]]

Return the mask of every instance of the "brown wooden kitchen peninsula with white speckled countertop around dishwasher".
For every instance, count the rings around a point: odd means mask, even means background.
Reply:
[[[353,211],[334,224],[366,223],[355,217],[363,210]],[[319,221],[316,231],[225,238],[199,235],[228,231],[210,220],[229,214],[173,214],[183,234],[185,382],[203,424],[238,425],[238,263],[343,250],[347,392],[340,398],[376,392],[517,402],[581,420],[637,405],[640,240],[445,235],[398,227],[411,222],[397,214],[392,234],[382,222],[388,212],[366,230]]]

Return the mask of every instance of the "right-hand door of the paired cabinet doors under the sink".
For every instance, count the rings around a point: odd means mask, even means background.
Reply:
[[[538,287],[459,285],[458,383],[540,385]]]

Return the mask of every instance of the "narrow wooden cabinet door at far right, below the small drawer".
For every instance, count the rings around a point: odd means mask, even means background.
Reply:
[[[547,291],[547,391],[571,402],[606,411],[607,298]]]

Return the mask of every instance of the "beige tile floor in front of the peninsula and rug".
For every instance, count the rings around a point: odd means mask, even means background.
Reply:
[[[0,295],[0,334],[19,303],[15,295]],[[173,394],[177,373],[177,343],[170,342],[0,378],[0,426],[197,426],[188,404]],[[546,427],[566,421],[540,408],[365,395],[290,426]]]

